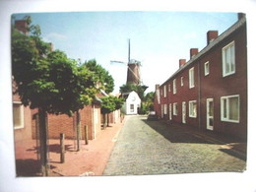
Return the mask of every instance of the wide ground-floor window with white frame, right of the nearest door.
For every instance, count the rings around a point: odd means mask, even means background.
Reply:
[[[239,122],[240,103],[239,96],[221,97],[222,121]]]

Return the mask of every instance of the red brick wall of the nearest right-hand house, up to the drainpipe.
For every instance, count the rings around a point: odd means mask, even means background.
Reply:
[[[222,48],[229,42],[235,43],[235,74],[223,77]],[[201,125],[206,129],[206,99],[214,98],[214,130],[241,138],[247,135],[247,53],[246,27],[228,36],[220,46],[205,55],[201,60],[202,78],[202,120]],[[204,75],[204,64],[210,62],[210,74]],[[221,120],[221,96],[239,95],[239,123]]]

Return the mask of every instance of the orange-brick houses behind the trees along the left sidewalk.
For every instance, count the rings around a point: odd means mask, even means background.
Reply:
[[[28,24],[24,20],[15,21],[15,27],[18,31],[29,35]],[[51,47],[52,44],[50,43]],[[17,87],[12,82],[13,93]],[[85,126],[88,125],[89,139],[96,139],[97,133],[101,130],[101,114],[100,114],[100,97],[107,96],[103,91],[96,95],[96,99],[90,105],[85,105],[79,111],[81,119],[81,139],[85,139]],[[38,138],[37,125],[37,109],[31,109],[30,106],[25,107],[18,94],[13,95],[13,116],[14,116],[14,132],[15,141],[20,142],[27,139]],[[117,123],[121,121],[120,110],[116,110],[109,114],[109,123]],[[67,139],[76,139],[77,137],[77,116],[69,117],[68,115],[47,114],[48,139],[59,139],[60,133],[64,133]]]

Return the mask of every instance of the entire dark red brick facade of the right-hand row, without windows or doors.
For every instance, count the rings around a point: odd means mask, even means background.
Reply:
[[[235,74],[223,77],[222,49],[234,41],[235,44]],[[201,55],[189,66],[183,66],[171,79],[160,86],[160,104],[155,97],[155,110],[160,115],[160,105],[167,104],[167,114],[164,119],[169,119],[169,103],[172,106],[173,122],[182,122],[182,101],[186,102],[186,124],[191,127],[206,129],[206,102],[207,98],[214,99],[214,131],[246,139],[247,136],[247,50],[246,50],[246,25],[232,32],[211,50]],[[205,76],[205,63],[210,62],[210,75]],[[195,87],[189,89],[189,69],[194,67]],[[183,77],[184,86],[180,85]],[[173,79],[176,79],[177,93],[172,94]],[[199,84],[200,80],[200,84]],[[166,86],[167,96],[163,96]],[[170,85],[170,92],[168,92]],[[221,97],[239,95],[240,115],[239,122],[224,122],[221,120]],[[189,100],[197,100],[197,117],[189,117]],[[173,103],[178,104],[178,115],[173,115]]]

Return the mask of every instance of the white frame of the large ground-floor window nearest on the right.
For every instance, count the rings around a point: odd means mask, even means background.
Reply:
[[[237,97],[238,98],[238,119],[230,119],[229,118],[229,98],[231,97]],[[225,101],[224,101],[225,100]],[[224,112],[224,104],[225,106],[225,112]],[[240,122],[240,96],[239,95],[233,95],[233,96],[222,96],[221,97],[221,120],[226,122],[232,122],[232,123],[239,123]]]

